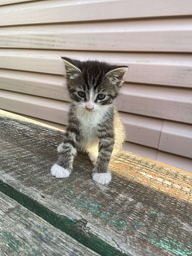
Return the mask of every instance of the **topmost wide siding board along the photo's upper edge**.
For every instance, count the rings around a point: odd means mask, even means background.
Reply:
[[[15,2],[2,0],[0,5]],[[11,26],[36,23],[63,23],[91,20],[122,20],[141,17],[170,17],[191,15],[190,0],[68,0],[39,1],[0,10],[0,25]],[[11,15],[8,15],[11,14]]]

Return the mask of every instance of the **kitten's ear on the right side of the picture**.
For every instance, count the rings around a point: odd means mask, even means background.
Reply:
[[[105,76],[110,80],[110,83],[116,86],[121,86],[128,67],[117,67],[114,70],[110,70]]]

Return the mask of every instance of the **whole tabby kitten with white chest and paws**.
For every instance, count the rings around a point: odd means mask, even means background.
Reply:
[[[57,178],[70,176],[73,158],[80,149],[88,152],[94,164],[93,180],[108,184],[111,181],[108,169],[110,158],[125,139],[114,99],[119,94],[128,67],[99,61],[62,59],[72,103],[67,131],[57,148],[58,160],[51,167],[51,174]]]

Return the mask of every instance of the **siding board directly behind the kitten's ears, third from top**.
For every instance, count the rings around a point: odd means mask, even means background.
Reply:
[[[128,65],[125,82],[192,88],[192,55],[127,52],[77,52],[0,48],[0,68],[63,75],[66,55],[82,61],[98,59]]]

